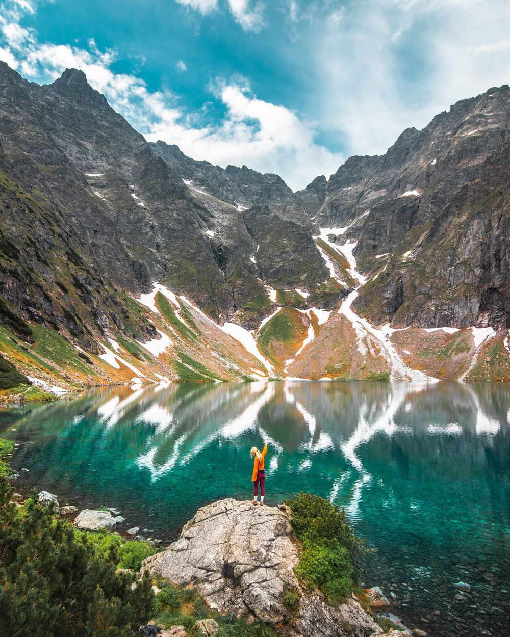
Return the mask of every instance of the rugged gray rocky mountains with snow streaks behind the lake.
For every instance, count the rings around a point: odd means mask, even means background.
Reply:
[[[510,89],[293,192],[0,62],[0,352],[43,390],[510,380]]]

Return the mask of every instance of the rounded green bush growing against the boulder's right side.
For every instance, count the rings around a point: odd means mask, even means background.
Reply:
[[[322,497],[300,493],[285,503],[303,545],[296,576],[310,589],[320,589],[331,603],[341,603],[360,581],[364,541],[354,534],[345,510]]]

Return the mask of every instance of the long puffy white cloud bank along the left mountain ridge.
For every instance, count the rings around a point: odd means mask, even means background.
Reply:
[[[150,92],[135,75],[114,73],[115,52],[99,50],[94,40],[79,48],[38,43],[34,36],[15,52],[0,49],[0,57],[35,80],[55,79],[66,68],[82,69],[92,87],[147,140],[177,144],[187,155],[220,166],[246,164],[277,173],[293,189],[305,187],[317,174],[329,176],[343,159],[316,143],[314,124],[285,106],[258,99],[245,81],[223,80],[212,87],[226,114],[216,125],[201,126],[200,111],[177,108],[170,92]]]

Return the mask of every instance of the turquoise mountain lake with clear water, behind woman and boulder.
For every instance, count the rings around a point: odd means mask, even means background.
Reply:
[[[510,388],[500,383],[286,382],[127,387],[0,411],[17,490],[118,506],[171,540],[196,509],[300,490],[345,506],[378,552],[367,585],[430,635],[509,635]],[[460,594],[455,582],[472,589]],[[422,619],[423,618],[423,619]],[[425,621],[424,621],[425,620]]]

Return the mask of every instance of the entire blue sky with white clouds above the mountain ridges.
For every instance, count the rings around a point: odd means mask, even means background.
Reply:
[[[0,0],[0,59],[82,68],[148,140],[293,189],[510,80],[507,0]]]

